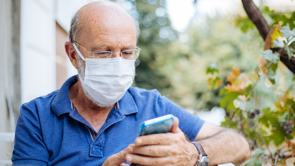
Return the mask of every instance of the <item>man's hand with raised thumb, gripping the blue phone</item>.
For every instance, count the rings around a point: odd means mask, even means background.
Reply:
[[[186,140],[178,128],[178,123],[179,120],[175,117],[171,133],[137,137],[135,144],[127,147],[130,154],[126,155],[126,160],[145,166],[195,165],[199,153],[196,147]]]

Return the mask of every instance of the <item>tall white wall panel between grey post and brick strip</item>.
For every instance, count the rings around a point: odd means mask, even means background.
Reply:
[[[56,88],[53,0],[21,1],[22,103]]]

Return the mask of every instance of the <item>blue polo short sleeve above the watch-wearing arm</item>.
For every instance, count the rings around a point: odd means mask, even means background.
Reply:
[[[154,108],[157,117],[167,114],[176,116],[179,119],[179,128],[181,131],[186,134],[190,141],[193,141],[205,121],[200,119],[198,116],[187,112],[167,97],[161,96],[160,92],[157,90],[155,91]]]

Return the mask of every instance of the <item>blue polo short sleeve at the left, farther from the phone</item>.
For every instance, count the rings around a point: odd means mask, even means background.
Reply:
[[[50,154],[43,143],[37,109],[23,104],[15,130],[12,165],[47,166]]]

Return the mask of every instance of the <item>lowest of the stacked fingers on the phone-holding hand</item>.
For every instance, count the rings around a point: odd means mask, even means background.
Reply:
[[[172,165],[176,163],[176,160],[169,159],[168,157],[148,157],[148,156],[140,156],[136,154],[127,154],[126,160],[128,162],[136,163],[139,165],[145,165],[145,166],[163,166],[163,165]]]

